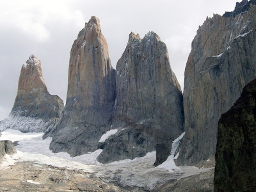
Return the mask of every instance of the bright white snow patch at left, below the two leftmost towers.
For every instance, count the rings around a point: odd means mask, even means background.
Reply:
[[[79,166],[82,168],[85,166],[84,164],[100,164],[97,161],[97,157],[102,152],[102,149],[95,150],[95,152],[90,154],[70,157],[67,152],[54,154],[49,150],[52,138],[49,137],[43,140],[42,136],[44,133],[42,132],[23,133],[18,130],[7,129],[1,133],[0,140],[19,141],[19,145],[15,147],[17,149],[17,154],[14,154],[13,156],[6,155],[6,161],[12,161],[11,164],[13,164],[13,158],[17,161],[36,161],[39,164],[51,164],[52,166],[66,166],[70,168],[79,168]],[[4,167],[7,166],[8,164]],[[85,168],[88,170],[87,166],[85,166]]]

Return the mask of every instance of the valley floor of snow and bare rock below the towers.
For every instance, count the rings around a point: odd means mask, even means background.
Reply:
[[[156,152],[100,164],[96,157],[101,150],[77,157],[65,152],[53,154],[49,150],[51,138],[42,140],[42,133],[8,129],[0,140],[19,141],[17,154],[6,155],[0,164],[0,191],[170,191],[180,183],[188,188],[184,191],[190,191],[186,180],[191,180],[190,185],[199,180],[198,185],[205,186],[205,191],[212,190],[212,168],[173,166],[168,167],[169,172],[153,167]]]

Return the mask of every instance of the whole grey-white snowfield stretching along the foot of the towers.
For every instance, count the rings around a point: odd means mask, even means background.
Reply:
[[[37,164],[48,164],[67,169],[83,169],[84,172],[93,173],[104,182],[116,182],[120,186],[137,186],[150,190],[156,186],[157,182],[164,182],[170,179],[180,179],[209,169],[198,169],[195,167],[177,167],[173,161],[175,148],[184,133],[173,141],[173,150],[165,163],[154,167],[156,152],[149,152],[145,157],[135,159],[125,159],[109,164],[101,164],[97,161],[97,156],[102,150],[96,150],[90,154],[77,157],[70,157],[67,152],[52,153],[49,150],[51,138],[42,140],[43,133],[22,133],[17,130],[7,129],[1,132],[0,140],[19,141],[17,154],[4,156],[0,170],[16,162],[33,161]],[[106,132],[104,139],[115,134],[115,131]],[[102,140],[103,140],[102,138]],[[169,171],[168,171],[169,170]]]

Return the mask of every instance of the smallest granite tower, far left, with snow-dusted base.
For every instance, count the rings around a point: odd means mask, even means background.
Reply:
[[[0,130],[44,132],[56,123],[63,109],[63,100],[50,95],[47,90],[40,60],[31,55],[21,68],[12,111],[8,118],[0,122]]]

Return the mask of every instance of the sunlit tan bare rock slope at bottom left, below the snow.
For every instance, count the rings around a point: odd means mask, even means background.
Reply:
[[[144,191],[105,183],[92,173],[32,162],[1,170],[0,191]]]

